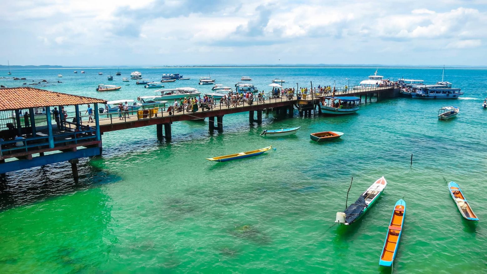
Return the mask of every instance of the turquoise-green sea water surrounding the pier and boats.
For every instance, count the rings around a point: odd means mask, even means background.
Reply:
[[[375,69],[355,68],[176,68],[13,70],[12,76],[46,79],[52,91],[135,99],[152,90],[123,86],[94,91],[99,83],[123,84],[138,70],[158,80],[162,73],[191,77],[173,86],[202,91],[206,76],[232,85],[251,76],[260,90],[274,78],[287,85],[358,83]],[[99,76],[96,73],[105,73]],[[111,69],[112,73],[117,71]],[[395,98],[363,104],[356,115],[294,118],[247,113],[225,115],[224,131],[206,122],[177,122],[170,143],[155,127],[103,135],[104,155],[84,159],[73,183],[69,164],[7,174],[1,181],[1,273],[390,273],[378,260],[394,203],[408,205],[398,273],[485,273],[486,229],[464,221],[447,182],[455,181],[481,220],[487,213],[486,70],[446,71],[462,88],[458,100]],[[63,78],[56,75],[61,73]],[[391,78],[440,80],[439,69],[379,69]],[[119,79],[119,78],[120,79]],[[54,83],[61,80],[63,83]],[[20,80],[22,81],[22,80]],[[22,84],[0,78],[0,84]],[[170,88],[171,83],[166,85]],[[438,121],[438,109],[454,105],[457,117]],[[263,129],[298,127],[296,136],[266,139]],[[317,144],[310,132],[336,130],[336,142]],[[221,164],[205,158],[273,145],[276,151]],[[413,154],[413,164],[410,164]],[[349,227],[333,226],[335,214],[376,179],[388,186],[367,215]]]

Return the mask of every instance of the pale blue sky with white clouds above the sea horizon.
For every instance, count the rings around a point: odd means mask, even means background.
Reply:
[[[0,64],[487,65],[487,0],[0,0]]]

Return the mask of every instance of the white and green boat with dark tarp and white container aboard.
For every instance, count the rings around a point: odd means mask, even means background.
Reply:
[[[354,221],[360,219],[375,201],[380,197],[387,185],[387,181],[382,176],[375,183],[373,183],[367,190],[358,197],[357,201],[352,203],[344,212],[337,212],[337,219],[335,222],[350,225]]]

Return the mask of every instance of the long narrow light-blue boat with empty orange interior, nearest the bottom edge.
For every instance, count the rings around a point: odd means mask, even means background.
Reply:
[[[406,216],[406,202],[402,199],[394,205],[393,216],[387,228],[387,236],[382,248],[379,265],[392,266],[401,239],[404,217]]]

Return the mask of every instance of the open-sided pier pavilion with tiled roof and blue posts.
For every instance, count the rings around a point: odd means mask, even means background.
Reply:
[[[0,99],[0,174],[69,161],[77,177],[77,159],[101,154],[95,110],[105,100],[28,87],[2,88]],[[85,104],[93,104],[93,120],[83,124]]]

